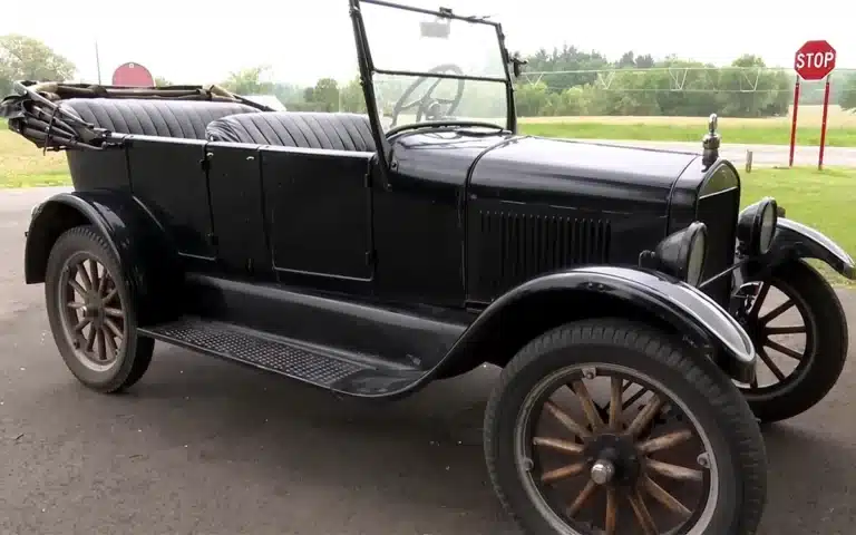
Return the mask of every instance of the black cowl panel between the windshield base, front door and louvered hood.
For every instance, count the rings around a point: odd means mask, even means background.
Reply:
[[[467,173],[506,137],[417,132],[392,142],[395,171],[372,184],[378,294],[463,307]]]

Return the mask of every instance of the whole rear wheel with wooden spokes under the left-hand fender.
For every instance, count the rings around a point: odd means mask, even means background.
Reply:
[[[54,244],[45,298],[54,340],[80,382],[115,392],[143,377],[154,340],[137,334],[134,295],[95,227],[70,228]]]

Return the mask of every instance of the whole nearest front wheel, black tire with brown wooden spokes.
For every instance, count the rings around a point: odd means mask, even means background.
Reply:
[[[525,533],[752,534],[760,430],[704,357],[623,320],[571,323],[503,371],[485,417],[494,487]]]

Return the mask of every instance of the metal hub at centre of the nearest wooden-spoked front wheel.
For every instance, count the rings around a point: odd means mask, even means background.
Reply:
[[[632,438],[603,434],[593,438],[583,454],[597,485],[632,486],[642,471],[640,455]]]

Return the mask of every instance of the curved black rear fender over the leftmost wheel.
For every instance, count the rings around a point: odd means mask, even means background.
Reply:
[[[130,194],[60,193],[36,206],[25,245],[25,281],[43,283],[54,243],[67,230],[87,224],[98,228],[119,260],[136,296],[139,324],[175,318],[183,281],[178,255],[164,227]]]

